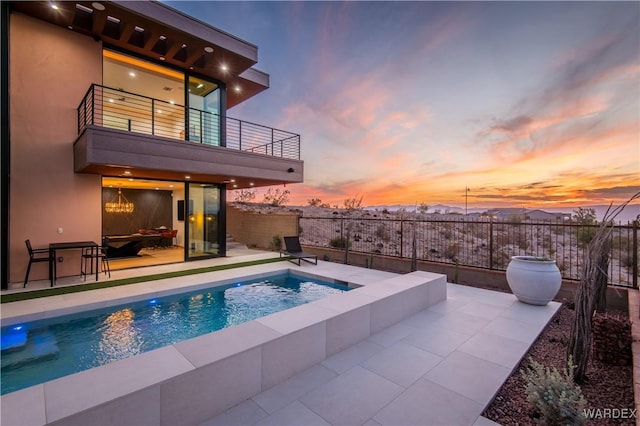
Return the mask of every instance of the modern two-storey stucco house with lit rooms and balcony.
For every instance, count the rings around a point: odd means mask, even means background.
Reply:
[[[302,182],[299,135],[227,116],[269,87],[255,45],[152,1],[1,7],[3,288],[26,239],[162,225],[185,261],[224,256],[228,189]]]

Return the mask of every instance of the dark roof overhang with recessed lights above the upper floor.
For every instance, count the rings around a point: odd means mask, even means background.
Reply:
[[[55,9],[52,7],[55,5]],[[258,47],[155,1],[14,1],[14,11],[227,85],[227,108],[269,87]]]

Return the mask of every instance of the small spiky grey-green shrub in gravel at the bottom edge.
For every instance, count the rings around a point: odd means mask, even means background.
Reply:
[[[526,381],[527,401],[535,411],[535,422],[545,425],[580,425],[585,421],[587,401],[573,381],[573,360],[558,371],[529,358],[529,367],[520,370]]]

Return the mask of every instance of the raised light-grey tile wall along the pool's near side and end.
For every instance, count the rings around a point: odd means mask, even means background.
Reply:
[[[198,424],[446,299],[444,275],[338,266],[313,271],[362,287],[4,395],[2,424]],[[163,285],[154,294],[184,291]]]

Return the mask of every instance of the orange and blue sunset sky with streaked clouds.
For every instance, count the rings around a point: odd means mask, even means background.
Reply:
[[[258,46],[271,86],[229,115],[301,135],[291,205],[640,191],[638,2],[167,4]]]

